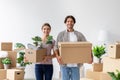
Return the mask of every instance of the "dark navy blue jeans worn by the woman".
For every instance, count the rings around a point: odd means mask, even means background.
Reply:
[[[52,80],[53,65],[35,64],[36,80]]]

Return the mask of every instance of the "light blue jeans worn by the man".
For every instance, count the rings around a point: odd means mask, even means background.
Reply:
[[[62,80],[80,80],[79,67],[61,66]]]

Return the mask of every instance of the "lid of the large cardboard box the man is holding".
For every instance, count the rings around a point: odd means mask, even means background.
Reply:
[[[90,42],[58,42],[59,47],[86,47],[92,46]]]

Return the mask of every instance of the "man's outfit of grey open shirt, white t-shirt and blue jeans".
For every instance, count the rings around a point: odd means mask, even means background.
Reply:
[[[58,49],[58,42],[79,42],[86,41],[84,35],[76,30],[73,32],[62,31],[58,34],[55,49]],[[74,53],[73,53],[74,54]],[[62,80],[80,80],[79,67],[82,64],[61,65]]]

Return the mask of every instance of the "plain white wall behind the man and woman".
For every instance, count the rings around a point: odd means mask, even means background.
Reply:
[[[77,20],[75,29],[88,41],[97,43],[99,30],[105,29],[113,43],[120,40],[119,4],[120,0],[0,0],[0,42],[31,43],[31,37],[42,35],[44,22],[51,24],[51,35],[56,39],[65,29],[65,16],[72,14]]]

